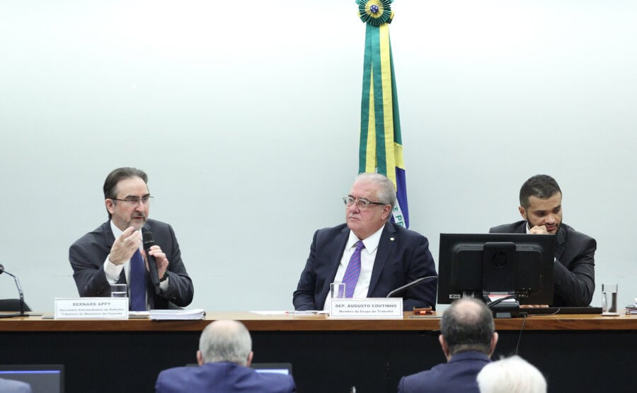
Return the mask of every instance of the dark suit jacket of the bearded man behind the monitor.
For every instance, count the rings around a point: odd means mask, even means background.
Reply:
[[[499,225],[490,233],[525,234],[527,222]],[[597,242],[566,224],[561,224],[556,234],[555,307],[587,306],[595,292],[595,250]]]

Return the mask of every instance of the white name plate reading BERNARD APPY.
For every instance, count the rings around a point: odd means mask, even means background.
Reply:
[[[56,297],[54,319],[128,319],[128,297]]]

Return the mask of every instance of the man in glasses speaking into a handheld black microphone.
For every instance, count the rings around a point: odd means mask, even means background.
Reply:
[[[110,296],[110,285],[128,285],[131,309],[185,307],[193,300],[193,282],[181,261],[173,228],[148,218],[147,175],[134,168],[118,168],[104,182],[109,220],[71,245],[69,261],[82,297]],[[154,245],[142,248],[142,232],[151,232]],[[149,271],[156,261],[159,286]],[[152,263],[152,262],[151,262]]]

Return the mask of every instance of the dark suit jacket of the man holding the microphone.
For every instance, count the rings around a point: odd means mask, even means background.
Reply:
[[[161,247],[161,251],[168,258],[168,290],[155,295],[150,274],[146,273],[146,290],[151,309],[167,309],[168,302],[179,307],[188,306],[193,301],[193,281],[188,277],[181,261],[181,252],[173,228],[164,222],[148,220],[144,224],[144,229],[152,232],[155,244]],[[110,284],[104,273],[104,261],[110,254],[110,247],[114,242],[110,221],[107,221],[71,245],[69,261],[80,296],[110,296]],[[118,283],[126,283],[123,270]]]

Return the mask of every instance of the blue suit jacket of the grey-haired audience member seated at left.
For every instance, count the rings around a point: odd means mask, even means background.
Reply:
[[[205,363],[199,367],[163,370],[157,393],[288,393],[297,387],[290,375],[259,373],[234,363]]]

